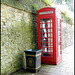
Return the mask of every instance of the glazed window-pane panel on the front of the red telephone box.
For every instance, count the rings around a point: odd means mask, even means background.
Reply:
[[[42,56],[53,57],[53,18],[40,19]]]

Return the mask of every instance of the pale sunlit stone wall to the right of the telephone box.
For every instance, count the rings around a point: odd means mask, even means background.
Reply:
[[[74,25],[62,22],[62,49],[74,42]]]

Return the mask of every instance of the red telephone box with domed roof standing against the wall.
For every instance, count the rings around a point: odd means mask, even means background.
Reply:
[[[61,11],[54,7],[38,10],[37,28],[41,63],[59,64],[62,61]]]

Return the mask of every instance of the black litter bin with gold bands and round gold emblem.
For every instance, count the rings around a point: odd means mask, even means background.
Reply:
[[[29,49],[25,51],[27,71],[37,72],[41,67],[41,50]]]

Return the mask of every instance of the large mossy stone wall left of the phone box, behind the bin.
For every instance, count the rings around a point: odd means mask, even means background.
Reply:
[[[1,5],[1,74],[22,68],[24,50],[35,48],[35,14]]]

